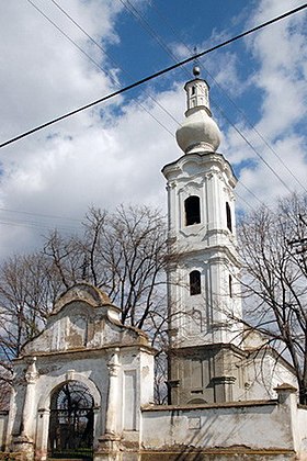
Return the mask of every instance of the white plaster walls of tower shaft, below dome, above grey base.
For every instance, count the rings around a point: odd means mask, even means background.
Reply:
[[[163,169],[169,193],[168,269],[172,347],[239,345],[241,299],[236,250],[236,178],[220,154],[191,154]],[[200,223],[186,225],[185,201],[200,199]],[[230,210],[231,226],[227,218]],[[229,228],[231,227],[231,229]],[[201,273],[201,294],[190,294],[189,274]],[[231,284],[231,288],[230,288]]]

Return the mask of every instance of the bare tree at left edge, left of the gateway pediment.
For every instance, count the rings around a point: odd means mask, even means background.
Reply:
[[[44,326],[61,285],[39,252],[14,256],[0,267],[0,356],[10,368],[22,346]]]

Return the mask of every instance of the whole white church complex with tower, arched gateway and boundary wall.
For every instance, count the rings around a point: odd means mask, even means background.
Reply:
[[[183,155],[168,191],[169,404],[155,405],[155,349],[105,293],[81,282],[56,302],[14,361],[5,456],[93,459],[307,460],[307,407],[294,371],[243,328],[231,165],[200,68],[185,83]],[[260,351],[259,351],[260,350]],[[0,453],[1,458],[1,453]]]

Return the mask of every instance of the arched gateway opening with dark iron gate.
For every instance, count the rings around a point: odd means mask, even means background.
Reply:
[[[53,392],[48,440],[53,458],[92,458],[93,407],[89,389],[79,381]]]

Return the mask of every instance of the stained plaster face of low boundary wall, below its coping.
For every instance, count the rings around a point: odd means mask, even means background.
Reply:
[[[288,413],[276,402],[151,409],[143,412],[143,445],[145,449],[245,446],[292,450],[288,424]]]

